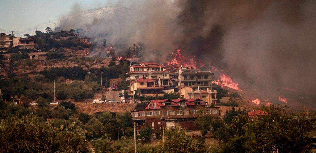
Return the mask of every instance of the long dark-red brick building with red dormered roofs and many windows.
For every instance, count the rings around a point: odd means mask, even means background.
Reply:
[[[143,110],[131,111],[137,128],[151,126],[153,131],[172,128],[176,123],[187,130],[197,130],[198,114],[210,114],[219,118],[219,107],[206,105],[201,99],[151,100]]]

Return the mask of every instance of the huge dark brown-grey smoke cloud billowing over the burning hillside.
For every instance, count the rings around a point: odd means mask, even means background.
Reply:
[[[111,15],[68,18],[60,27],[88,28],[86,35],[96,43],[142,42],[146,59],[156,59],[153,49],[162,58],[181,49],[185,56],[195,56],[205,65],[211,61],[238,81],[260,88],[316,89],[316,1],[166,0],[116,5]]]

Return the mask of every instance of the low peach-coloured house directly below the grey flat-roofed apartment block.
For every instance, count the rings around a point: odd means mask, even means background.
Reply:
[[[185,99],[201,99],[206,101],[208,104],[216,104],[216,90],[210,90],[207,88],[205,91],[200,90],[200,87],[197,86],[197,90],[193,90],[192,87],[184,86],[179,89],[180,95],[183,95]]]

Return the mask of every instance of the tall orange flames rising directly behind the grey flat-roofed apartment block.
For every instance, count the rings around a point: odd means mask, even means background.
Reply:
[[[204,67],[204,64],[201,62],[201,60],[198,60],[198,62],[194,59],[195,57],[192,57],[192,58],[186,58],[184,56],[181,55],[181,50],[178,49],[176,54],[174,55],[174,58],[173,60],[171,60],[171,62],[167,62],[167,65],[168,66],[174,66],[174,67],[181,67],[184,66],[184,67],[190,67],[192,66],[194,69],[197,68],[197,66],[201,66],[201,67]]]

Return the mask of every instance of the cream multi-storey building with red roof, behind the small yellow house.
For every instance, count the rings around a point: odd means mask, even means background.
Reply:
[[[141,62],[130,66],[130,71],[126,73],[128,81],[135,81],[145,77],[154,80],[154,85],[169,90],[169,71],[166,66],[157,63]],[[132,91],[132,90],[131,90]]]

